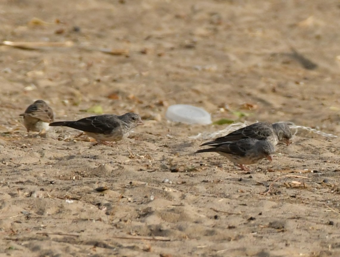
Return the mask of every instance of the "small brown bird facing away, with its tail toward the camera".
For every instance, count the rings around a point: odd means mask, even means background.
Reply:
[[[23,124],[27,132],[44,133],[49,129],[48,124],[54,121],[52,108],[43,100],[36,100],[19,116],[23,116]]]

